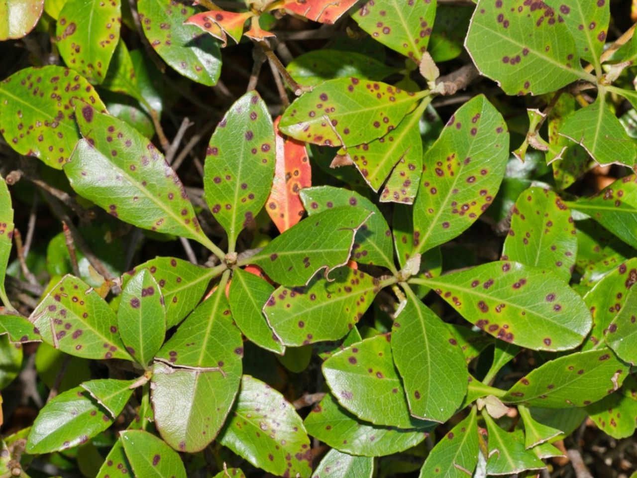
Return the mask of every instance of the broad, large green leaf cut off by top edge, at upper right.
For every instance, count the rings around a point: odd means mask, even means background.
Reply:
[[[466,47],[482,75],[506,94],[556,91],[580,78],[575,40],[559,12],[526,0],[479,0]]]

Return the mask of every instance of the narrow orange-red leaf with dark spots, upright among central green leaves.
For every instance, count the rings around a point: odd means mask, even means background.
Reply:
[[[270,197],[266,201],[266,210],[280,232],[299,222],[303,215],[303,204],[299,192],[311,186],[311,168],[304,143],[276,133],[276,166],[275,178]]]

